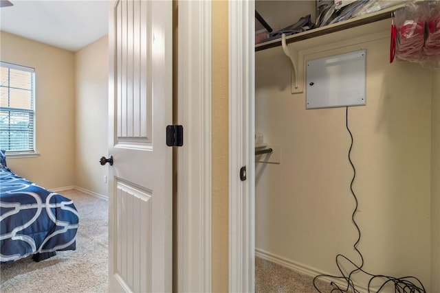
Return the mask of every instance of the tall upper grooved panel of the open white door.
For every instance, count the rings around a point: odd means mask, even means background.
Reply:
[[[120,1],[116,6],[118,45],[118,141],[151,143],[152,1]],[[133,13],[133,10],[136,13]],[[133,18],[128,19],[128,15]],[[118,17],[120,22],[118,23]],[[142,19],[142,22],[141,22]],[[148,27],[150,28],[148,30]],[[142,38],[140,38],[142,36]],[[141,82],[142,81],[142,82]]]

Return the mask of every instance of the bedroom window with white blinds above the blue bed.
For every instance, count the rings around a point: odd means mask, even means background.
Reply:
[[[0,62],[0,150],[34,152],[34,69]]]

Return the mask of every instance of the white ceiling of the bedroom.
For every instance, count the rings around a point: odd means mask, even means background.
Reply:
[[[78,51],[107,35],[107,0],[10,0],[0,8],[0,29],[60,47]]]

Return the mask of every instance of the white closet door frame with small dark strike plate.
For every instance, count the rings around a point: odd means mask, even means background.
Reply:
[[[255,1],[229,1],[229,291],[255,291]],[[247,179],[239,170],[246,166]]]

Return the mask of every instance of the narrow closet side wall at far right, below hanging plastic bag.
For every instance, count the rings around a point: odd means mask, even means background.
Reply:
[[[431,292],[440,292],[440,71],[432,74]]]

